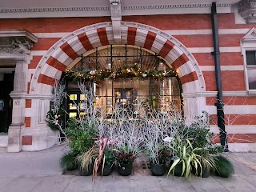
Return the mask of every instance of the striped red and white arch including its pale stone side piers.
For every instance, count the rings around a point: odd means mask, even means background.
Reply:
[[[48,141],[50,140],[48,138],[54,138],[56,135],[50,132],[45,119],[53,98],[53,85],[62,77],[63,71],[78,63],[80,55],[89,55],[98,47],[110,45],[116,45],[112,23],[102,22],[75,30],[56,42],[46,52],[38,63],[30,82],[28,94],[34,106],[34,113],[27,118],[31,119],[30,126],[37,128],[35,134],[37,139],[33,140],[32,145],[26,146],[26,150],[43,150],[54,145],[54,139]],[[119,45],[137,46],[149,50],[163,58],[178,72],[186,120],[205,110],[206,98],[202,93],[206,91],[206,86],[202,71],[194,56],[176,38],[152,26],[121,22]],[[32,138],[34,138],[33,133],[29,133]],[[43,139],[40,140],[40,138]]]

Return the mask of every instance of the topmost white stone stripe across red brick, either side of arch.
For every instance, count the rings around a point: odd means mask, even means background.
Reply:
[[[250,30],[249,28],[244,29],[220,29],[218,34],[246,34]],[[212,34],[212,30],[162,30],[164,33],[169,35],[194,35],[194,34]],[[56,33],[33,33],[38,38],[64,38],[70,32],[56,32]]]

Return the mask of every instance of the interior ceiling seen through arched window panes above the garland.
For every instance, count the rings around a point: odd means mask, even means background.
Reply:
[[[98,55],[98,56],[97,56]],[[81,59],[81,58],[80,58]],[[83,57],[75,66],[76,70],[102,70],[111,68],[117,70],[122,66],[138,65],[142,70],[150,70],[158,67],[159,63],[164,64],[165,61],[155,54],[151,54],[145,49],[135,46],[114,46],[112,48],[112,65],[111,65],[111,48],[107,46],[102,50],[98,50],[92,54]],[[83,63],[83,65],[82,65]],[[109,65],[110,64],[110,65]],[[161,64],[161,65],[162,65]]]

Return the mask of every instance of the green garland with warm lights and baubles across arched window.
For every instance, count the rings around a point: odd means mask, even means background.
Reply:
[[[154,78],[163,79],[166,77],[178,77],[176,70],[141,70],[137,65],[125,66],[118,70],[65,70],[67,77],[84,78],[86,80],[102,80],[105,78],[116,79],[116,78]]]

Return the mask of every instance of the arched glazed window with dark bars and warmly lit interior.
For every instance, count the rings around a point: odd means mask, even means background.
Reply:
[[[83,114],[77,107],[85,99],[74,79],[91,81],[92,74],[96,78],[94,107],[102,108],[103,118],[112,118],[118,107],[130,110],[130,118],[152,116],[157,111],[165,114],[169,106],[181,111],[182,90],[177,73],[158,54],[138,46],[110,45],[97,47],[78,59],[65,73],[69,117]],[[143,113],[138,110],[141,104]]]

